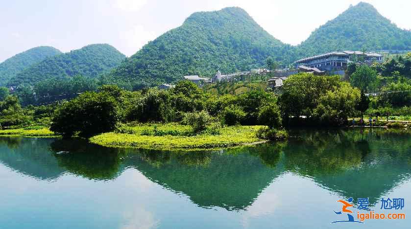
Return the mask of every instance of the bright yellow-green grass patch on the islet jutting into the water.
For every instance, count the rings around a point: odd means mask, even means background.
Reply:
[[[151,136],[142,135],[152,131],[154,125],[143,124],[131,127],[134,134],[105,133],[90,138],[90,142],[110,147],[133,147],[145,149],[218,149],[242,146],[262,139],[256,137],[261,126],[231,126],[221,128],[219,135],[198,134],[194,136]],[[157,129],[177,130],[180,133],[191,131],[191,127],[178,124],[156,125]]]

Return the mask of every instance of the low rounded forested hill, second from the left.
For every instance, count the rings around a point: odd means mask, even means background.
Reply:
[[[50,78],[66,78],[74,75],[96,77],[108,69],[117,67],[124,59],[125,56],[113,46],[107,44],[89,45],[46,58],[18,73],[10,79],[8,85],[34,84]]]

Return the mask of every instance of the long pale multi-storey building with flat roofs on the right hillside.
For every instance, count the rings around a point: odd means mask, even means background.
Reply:
[[[335,72],[337,74],[344,74],[343,71],[347,68],[349,63],[355,63],[358,61],[371,64],[372,62],[383,62],[383,55],[376,52],[362,51],[334,51],[324,54],[311,56],[297,60],[295,62],[296,67],[301,71],[314,71],[314,68],[319,71]],[[301,66],[311,69],[300,69]]]

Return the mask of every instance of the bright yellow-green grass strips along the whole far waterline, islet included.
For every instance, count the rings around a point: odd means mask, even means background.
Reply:
[[[381,128],[403,129],[408,130],[408,122],[390,122],[395,125],[385,126],[341,126],[338,128]],[[132,127],[138,131],[134,134],[121,133],[102,133],[87,140],[96,145],[109,148],[133,148],[133,149],[152,149],[152,150],[170,150],[170,151],[201,151],[201,150],[219,150],[227,148],[238,148],[244,146],[253,146],[270,142],[256,137],[257,130],[262,126],[229,126],[221,128],[219,135],[199,134],[194,136],[146,136],[141,131],[156,126],[155,124],[142,124]],[[171,125],[172,126],[172,125]],[[163,127],[170,128],[169,124]],[[162,127],[160,127],[162,128]],[[300,129],[300,128],[298,128]],[[39,138],[57,138],[58,134],[51,132],[47,128],[39,130],[10,129],[0,130],[0,137],[39,137]]]

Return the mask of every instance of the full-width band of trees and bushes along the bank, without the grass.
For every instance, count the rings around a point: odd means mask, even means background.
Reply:
[[[361,80],[369,77],[361,75],[369,73],[370,69],[365,66],[353,73],[358,75],[357,83],[361,87],[368,87]],[[84,79],[74,77],[71,80],[74,79],[77,81],[56,85],[66,87],[67,92],[75,92],[81,88],[73,89],[76,82],[84,82]],[[382,90],[407,91],[411,88],[409,83],[392,83]],[[53,84],[41,84],[36,89],[40,92],[46,85]],[[90,91],[82,88],[88,92],[71,101],[24,108],[15,95],[8,95],[7,89],[0,88],[0,123],[3,128],[51,126],[51,130],[66,136],[113,131],[118,129],[119,123],[129,122],[185,122],[199,127],[200,132],[210,120],[222,125],[264,125],[269,127],[266,131],[270,131],[293,125],[338,126],[345,125],[349,117],[363,114],[409,115],[411,111],[409,92],[367,97],[361,87],[354,88],[342,82],[339,76],[311,73],[291,75],[284,81],[281,95],[259,89],[215,95],[190,81],[180,81],[169,91],[146,88],[131,92],[113,85],[97,86],[97,82],[92,85]]]

